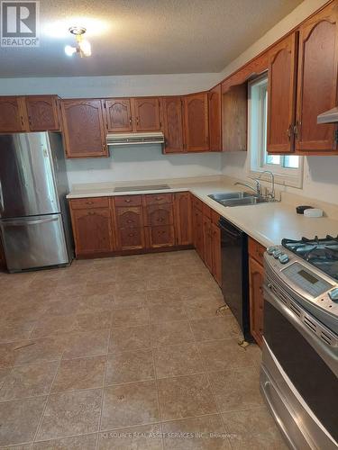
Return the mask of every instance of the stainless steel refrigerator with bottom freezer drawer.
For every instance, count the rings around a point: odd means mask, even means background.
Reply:
[[[59,133],[0,135],[0,237],[9,272],[69,265],[68,191]]]

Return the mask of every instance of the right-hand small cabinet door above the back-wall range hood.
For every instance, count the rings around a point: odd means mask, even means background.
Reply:
[[[155,97],[133,98],[136,131],[160,130],[160,102]]]

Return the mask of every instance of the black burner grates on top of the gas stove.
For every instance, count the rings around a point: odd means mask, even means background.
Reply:
[[[338,280],[338,237],[283,239],[282,245],[335,280]]]

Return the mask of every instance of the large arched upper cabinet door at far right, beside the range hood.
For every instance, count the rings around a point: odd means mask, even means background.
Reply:
[[[336,149],[336,125],[317,125],[317,115],[337,104],[337,9],[333,2],[300,27],[296,124],[300,153]]]

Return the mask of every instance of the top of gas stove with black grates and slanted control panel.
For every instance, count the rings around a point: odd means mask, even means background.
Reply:
[[[338,238],[283,239],[265,254],[266,279],[338,334]]]

